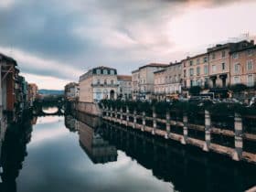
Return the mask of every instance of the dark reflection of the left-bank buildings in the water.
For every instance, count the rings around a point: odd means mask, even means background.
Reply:
[[[16,192],[16,177],[27,156],[27,144],[31,139],[33,121],[37,122],[35,118],[32,121],[28,119],[26,122],[12,124],[6,130],[0,157],[3,167],[0,191]]]

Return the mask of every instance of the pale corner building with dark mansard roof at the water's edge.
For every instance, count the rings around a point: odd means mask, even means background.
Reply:
[[[81,102],[95,102],[102,99],[117,99],[117,71],[107,67],[90,69],[80,76]]]

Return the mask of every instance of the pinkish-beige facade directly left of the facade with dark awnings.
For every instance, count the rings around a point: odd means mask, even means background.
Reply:
[[[183,85],[208,87],[208,54],[203,53],[194,57],[187,57],[181,61],[183,71]]]

